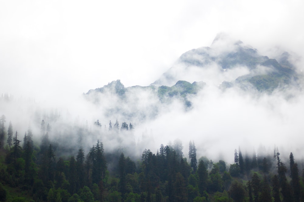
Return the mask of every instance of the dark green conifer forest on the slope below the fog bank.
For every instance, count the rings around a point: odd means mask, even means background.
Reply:
[[[99,120],[94,125],[101,127]],[[119,127],[116,120],[105,129],[119,134],[135,127],[126,122]],[[277,147],[271,154],[262,146],[242,154],[239,147],[231,154],[234,163],[228,165],[197,158],[191,140],[188,154],[176,140],[161,144],[156,154],[145,149],[141,156],[129,157],[105,151],[97,139],[89,151],[79,147],[74,156],[50,141],[50,131],[50,124],[42,120],[40,141],[33,139],[31,128],[22,137],[1,116],[0,201],[304,201],[302,165],[292,152],[289,161],[281,159]]]

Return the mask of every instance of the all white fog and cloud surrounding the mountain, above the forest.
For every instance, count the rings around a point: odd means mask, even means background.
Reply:
[[[270,151],[276,144],[300,159],[301,88],[270,94],[238,86],[223,90],[223,81],[234,81],[249,68],[223,70],[216,63],[185,68],[178,57],[199,47],[211,47],[218,56],[241,40],[269,58],[288,51],[301,72],[301,8],[302,1],[1,2],[0,94],[10,101],[2,97],[0,115],[6,116],[6,129],[12,121],[20,137],[30,126],[39,141],[44,119],[53,140],[69,134],[74,137],[69,143],[79,145],[79,127],[87,128],[90,135],[79,146],[87,149],[97,139],[105,150],[136,144],[139,157],[144,148],[156,153],[160,144],[180,139],[185,157],[194,140],[198,157],[212,160],[231,162],[235,148],[245,154],[260,144]],[[214,41],[222,32],[228,39]],[[110,91],[89,98],[82,94],[117,79],[125,87],[148,86],[167,70],[175,80],[162,85],[172,86],[176,79],[206,82],[198,94],[188,95],[190,109],[180,98],[160,102],[151,88],[129,88],[123,100]],[[260,66],[255,71],[272,70]],[[97,119],[101,128],[93,124]],[[117,141],[105,132],[116,119],[120,126],[134,124],[132,137],[120,133]]]

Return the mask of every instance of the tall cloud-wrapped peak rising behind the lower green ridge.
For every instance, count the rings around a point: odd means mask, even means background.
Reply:
[[[302,77],[289,61],[289,57],[290,55],[284,52],[277,61],[260,55],[257,49],[244,45],[242,41],[219,34],[210,47],[192,49],[182,54],[178,61],[151,85],[171,85],[178,80],[189,81],[193,78],[205,81],[206,71],[212,68],[218,68],[221,75],[244,68],[247,69],[246,74],[240,74],[229,81],[220,81],[220,87],[238,85],[244,89],[254,88],[257,91],[271,92],[278,87],[296,84],[299,77]],[[230,84],[227,85],[227,82]]]

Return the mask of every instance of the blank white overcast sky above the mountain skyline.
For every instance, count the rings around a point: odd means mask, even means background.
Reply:
[[[48,99],[154,82],[219,32],[302,56],[304,2],[1,1],[0,93]]]

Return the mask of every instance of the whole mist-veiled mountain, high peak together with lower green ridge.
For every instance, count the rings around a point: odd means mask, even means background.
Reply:
[[[302,78],[287,52],[276,59],[269,58],[242,41],[219,34],[210,47],[182,54],[149,86],[126,88],[116,80],[89,90],[85,98],[100,106],[106,116],[116,114],[144,121],[170,110],[172,103],[181,103],[186,111],[191,109],[192,98],[206,86],[221,91],[238,88],[271,94],[275,89],[298,87]]]

